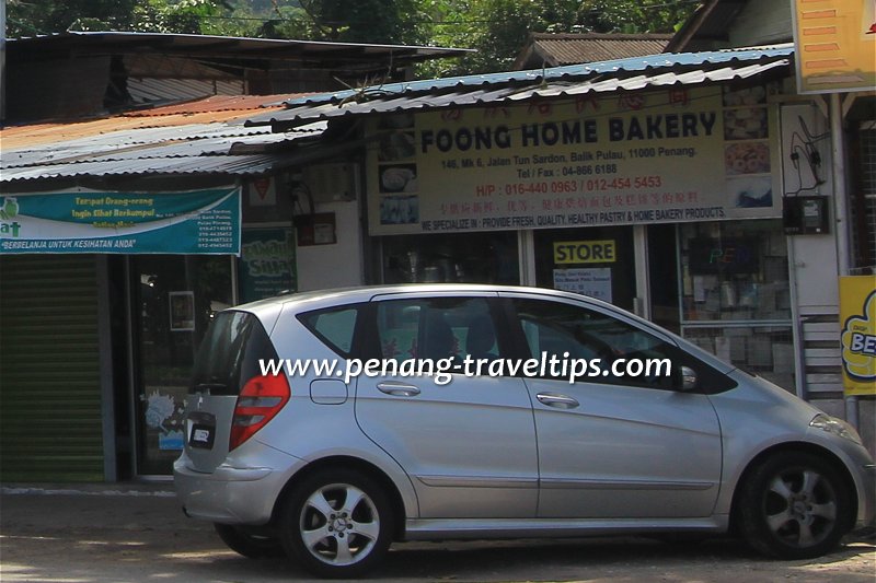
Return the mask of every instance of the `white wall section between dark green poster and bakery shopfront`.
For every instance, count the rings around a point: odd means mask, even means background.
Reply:
[[[324,202],[316,212],[334,212],[337,243],[298,247],[298,291],[361,285],[364,279],[362,233],[358,202]]]

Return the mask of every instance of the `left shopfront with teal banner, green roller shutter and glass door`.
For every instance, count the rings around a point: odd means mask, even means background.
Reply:
[[[301,285],[361,283],[360,270],[326,280],[318,257],[359,248],[356,203],[333,201],[322,234],[302,236],[312,220],[289,195],[301,172],[5,185],[3,481],[170,476],[214,314]]]

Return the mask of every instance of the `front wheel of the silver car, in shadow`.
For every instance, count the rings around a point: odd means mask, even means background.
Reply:
[[[804,452],[758,466],[739,498],[739,530],[757,551],[811,559],[833,549],[851,527],[850,492],[832,465]]]

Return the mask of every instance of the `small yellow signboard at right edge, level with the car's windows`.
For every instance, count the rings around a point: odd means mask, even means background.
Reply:
[[[842,375],[846,395],[876,395],[876,278],[840,278]]]

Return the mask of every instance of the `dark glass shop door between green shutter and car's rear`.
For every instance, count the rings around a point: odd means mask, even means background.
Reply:
[[[131,382],[140,476],[170,475],[183,450],[183,415],[195,351],[214,314],[233,305],[227,256],[130,259]]]

